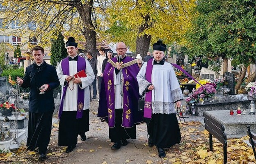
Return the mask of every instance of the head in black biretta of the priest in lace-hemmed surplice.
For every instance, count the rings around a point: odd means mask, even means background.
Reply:
[[[157,41],[153,44],[154,60],[160,62],[165,56],[166,45],[162,41]]]

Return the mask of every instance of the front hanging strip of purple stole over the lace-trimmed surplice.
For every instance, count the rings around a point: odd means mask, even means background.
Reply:
[[[146,66],[146,80],[150,83],[152,82],[151,80],[152,69],[153,69],[153,59],[149,59]],[[145,118],[152,117],[152,90],[145,94],[144,117]]]

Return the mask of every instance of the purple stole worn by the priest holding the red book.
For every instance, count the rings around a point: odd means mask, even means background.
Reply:
[[[69,75],[69,57],[66,57],[65,59],[62,60],[62,72],[64,75]],[[77,61],[77,72],[81,70],[85,70],[86,68],[86,62],[85,59],[78,56],[78,61]],[[66,90],[68,88],[68,83],[66,84],[65,87],[63,87],[63,92],[62,92],[62,99],[59,107],[59,118],[62,115],[63,111],[63,103],[64,103],[64,98],[66,96]],[[79,84],[78,84],[79,85]],[[76,113],[76,118],[82,118],[82,112],[84,109],[84,100],[85,100],[85,89],[80,89],[78,86],[78,100],[77,100],[77,113]]]

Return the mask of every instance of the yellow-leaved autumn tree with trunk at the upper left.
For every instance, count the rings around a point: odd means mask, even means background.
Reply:
[[[66,37],[86,41],[86,49],[96,55],[93,0],[2,0],[1,5],[3,25],[17,25],[10,34],[36,37],[39,45],[49,46],[57,38],[53,33],[60,30]]]

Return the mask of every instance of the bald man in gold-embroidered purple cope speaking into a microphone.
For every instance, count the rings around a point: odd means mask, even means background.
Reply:
[[[136,139],[136,124],[144,122],[138,112],[139,90],[136,59],[126,56],[126,45],[117,43],[117,57],[109,59],[103,74],[98,117],[109,125],[109,138],[117,150]]]

